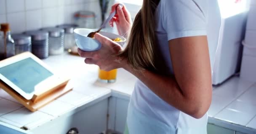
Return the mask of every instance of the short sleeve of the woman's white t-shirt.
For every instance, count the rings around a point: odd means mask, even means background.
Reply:
[[[201,8],[207,4],[198,5],[194,0],[163,1],[163,28],[168,34],[168,40],[207,35],[207,11]]]

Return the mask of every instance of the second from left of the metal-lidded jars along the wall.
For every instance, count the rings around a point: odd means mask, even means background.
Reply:
[[[45,31],[26,31],[25,34],[31,36],[32,53],[40,59],[45,59],[49,56],[48,39],[49,34]]]

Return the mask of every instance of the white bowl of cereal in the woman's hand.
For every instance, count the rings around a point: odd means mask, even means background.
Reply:
[[[99,50],[101,48],[101,43],[98,40],[87,37],[89,33],[94,31],[96,30],[88,29],[88,28],[76,28],[74,30],[75,42],[79,49],[85,52],[91,52],[91,51]],[[108,33],[104,31],[100,31],[99,33],[103,36],[108,37],[109,39],[121,38],[122,41],[116,41],[121,46],[123,46],[123,44],[126,41],[126,39],[123,36],[120,36],[114,33]]]

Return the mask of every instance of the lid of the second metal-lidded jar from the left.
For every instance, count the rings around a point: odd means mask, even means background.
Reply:
[[[42,41],[42,40],[47,40],[49,37],[49,33],[45,31],[26,31],[24,32],[25,34],[28,34],[31,36],[32,41]]]

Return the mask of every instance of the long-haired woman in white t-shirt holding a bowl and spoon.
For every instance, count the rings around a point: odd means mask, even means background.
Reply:
[[[123,49],[96,34],[102,48],[79,51],[86,64],[102,70],[124,68],[139,80],[128,107],[129,134],[206,134],[211,104],[211,67],[218,44],[220,14],[217,0],[144,0],[133,22],[118,4]],[[106,57],[107,55],[107,57]]]

